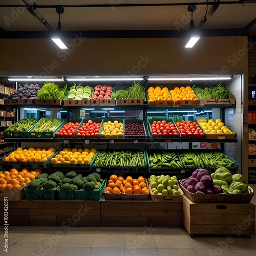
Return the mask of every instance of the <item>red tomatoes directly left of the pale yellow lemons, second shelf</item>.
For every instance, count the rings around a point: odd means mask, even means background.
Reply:
[[[99,135],[100,123],[89,120],[83,122],[76,133],[77,138],[97,138]]]

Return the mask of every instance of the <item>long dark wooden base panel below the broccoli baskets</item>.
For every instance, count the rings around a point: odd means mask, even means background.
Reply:
[[[0,225],[4,220],[3,205],[4,201],[0,201]],[[8,223],[12,226],[100,226],[100,201],[8,201]]]

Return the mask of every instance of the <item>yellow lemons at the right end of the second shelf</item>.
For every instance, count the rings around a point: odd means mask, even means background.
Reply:
[[[221,121],[220,118],[214,120],[209,119],[208,122],[206,121],[199,121],[199,124],[202,126],[204,131],[207,134],[233,134],[233,132],[228,129],[227,126]]]

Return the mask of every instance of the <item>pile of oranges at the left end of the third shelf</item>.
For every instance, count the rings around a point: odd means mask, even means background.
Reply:
[[[45,162],[49,157],[57,152],[55,147],[50,147],[48,150],[44,147],[29,147],[23,149],[17,147],[15,151],[4,158],[5,162]]]

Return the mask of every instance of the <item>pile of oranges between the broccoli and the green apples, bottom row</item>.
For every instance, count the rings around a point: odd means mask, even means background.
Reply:
[[[148,194],[148,187],[142,176],[138,179],[127,176],[124,179],[122,176],[111,175],[105,193]]]

